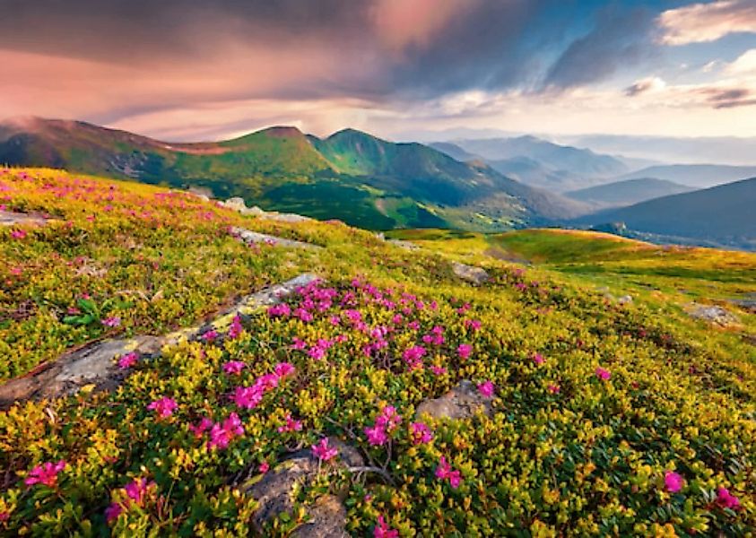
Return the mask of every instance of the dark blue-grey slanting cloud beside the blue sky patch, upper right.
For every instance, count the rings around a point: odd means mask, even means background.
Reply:
[[[576,39],[552,65],[546,86],[569,88],[600,81],[651,55],[653,17],[645,9],[605,10],[594,30]]]

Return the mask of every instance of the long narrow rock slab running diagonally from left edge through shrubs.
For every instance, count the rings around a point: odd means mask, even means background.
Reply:
[[[93,385],[95,390],[112,390],[125,378],[126,372],[119,369],[116,362],[121,355],[136,351],[142,357],[154,357],[160,354],[165,345],[192,340],[210,330],[225,331],[234,317],[248,316],[258,308],[281,302],[282,298],[317,280],[316,275],[304,273],[243,297],[210,324],[165,336],[105,340],[69,351],[46,367],[0,386],[0,409],[7,409],[16,402],[72,395],[87,385]]]

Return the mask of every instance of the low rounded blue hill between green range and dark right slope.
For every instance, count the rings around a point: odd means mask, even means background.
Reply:
[[[692,190],[695,189],[665,179],[640,178],[583,188],[564,193],[564,195],[588,204],[621,206],[639,204],[639,202],[661,196],[679,195]]]

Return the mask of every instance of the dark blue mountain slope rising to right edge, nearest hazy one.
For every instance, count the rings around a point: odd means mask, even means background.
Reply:
[[[578,221],[593,225],[622,222],[631,231],[756,249],[754,208],[756,178],[751,178],[595,213]]]

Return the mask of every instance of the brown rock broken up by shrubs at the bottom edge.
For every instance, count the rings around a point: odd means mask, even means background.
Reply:
[[[274,469],[265,473],[262,479],[253,479],[242,490],[251,495],[259,503],[252,516],[252,525],[256,533],[264,535],[265,524],[283,513],[291,514],[294,510],[292,492],[297,484],[308,487],[318,472],[322,472],[329,465],[356,467],[364,464],[360,453],[337,438],[328,438],[328,445],[335,447],[339,454],[333,463],[320,463],[312,456],[310,450],[300,450],[291,457],[277,464]],[[342,499],[333,495],[326,495],[308,508],[309,521],[300,526],[293,536],[329,537],[348,536],[346,533],[346,509]]]

